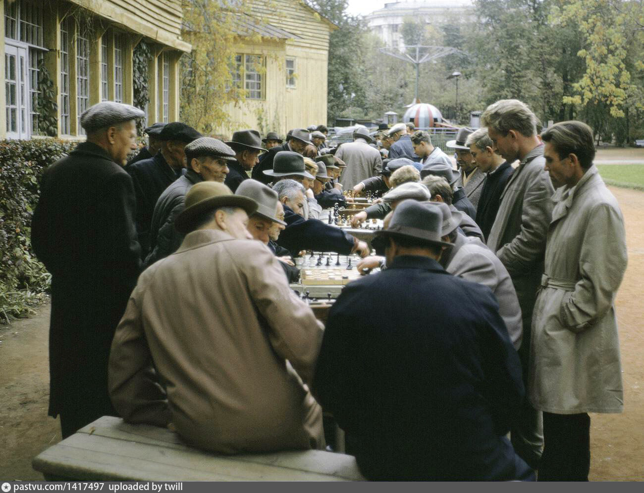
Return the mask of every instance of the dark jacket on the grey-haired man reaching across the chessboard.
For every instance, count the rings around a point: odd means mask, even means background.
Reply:
[[[278,245],[295,256],[301,250],[333,251],[349,255],[354,249],[354,237],[336,226],[319,219],[304,219],[289,206],[284,206],[287,226],[279,233]]]

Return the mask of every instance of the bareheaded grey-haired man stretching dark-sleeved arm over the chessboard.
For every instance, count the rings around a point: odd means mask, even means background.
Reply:
[[[368,245],[319,219],[304,219],[304,187],[294,180],[281,180],[273,186],[284,206],[286,229],[278,243],[294,255],[302,250],[333,251],[342,255],[369,255]]]

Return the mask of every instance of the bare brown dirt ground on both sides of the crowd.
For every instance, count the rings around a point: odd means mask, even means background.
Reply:
[[[617,296],[625,411],[592,415],[591,480],[644,480],[644,192],[611,188],[624,213],[629,267]],[[49,307],[0,325],[0,480],[42,480],[31,460],[61,440],[47,417]]]

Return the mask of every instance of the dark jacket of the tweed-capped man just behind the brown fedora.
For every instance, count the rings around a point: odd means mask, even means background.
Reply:
[[[193,170],[176,179],[156,201],[150,228],[151,251],[147,254],[145,267],[149,267],[161,258],[175,253],[184,240],[175,229],[175,219],[184,210],[185,194],[195,183],[204,181]]]

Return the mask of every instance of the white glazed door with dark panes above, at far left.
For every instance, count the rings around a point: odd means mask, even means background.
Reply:
[[[17,0],[5,4],[6,134],[29,138],[38,132],[39,65],[43,60],[41,2]]]

